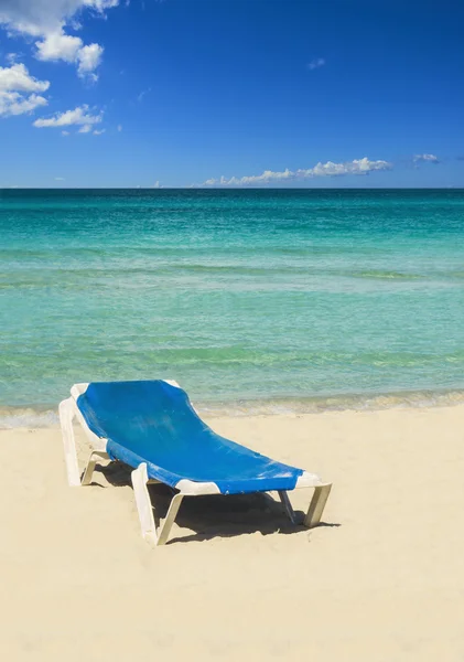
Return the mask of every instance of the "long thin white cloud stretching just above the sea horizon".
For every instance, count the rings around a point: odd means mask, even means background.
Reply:
[[[344,163],[334,163],[327,161],[326,163],[316,163],[313,168],[289,170],[285,169],[281,172],[273,172],[272,170],[265,170],[261,174],[253,174],[248,177],[231,177],[227,179],[222,177],[220,179],[208,179],[204,182],[205,186],[249,186],[249,185],[262,185],[271,182],[284,182],[284,181],[299,181],[313,179],[316,177],[342,177],[346,174],[369,174],[369,172],[376,170],[390,170],[392,164],[388,161],[370,161],[367,157],[364,159],[354,159],[353,161],[345,161]]]

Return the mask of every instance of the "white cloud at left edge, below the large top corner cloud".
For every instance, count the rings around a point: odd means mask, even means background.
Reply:
[[[48,87],[48,81],[37,81],[23,64],[0,66],[0,117],[32,113],[40,106],[46,106],[46,98],[35,93],[45,92]]]

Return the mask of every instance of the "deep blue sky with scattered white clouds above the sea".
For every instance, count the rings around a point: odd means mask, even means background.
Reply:
[[[458,0],[0,0],[0,186],[464,186]]]

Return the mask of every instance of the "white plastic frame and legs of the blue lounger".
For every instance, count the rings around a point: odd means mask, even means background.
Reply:
[[[172,380],[165,380],[165,382],[172,386],[180,387],[179,384]],[[71,397],[60,403],[60,421],[63,433],[64,456],[67,480],[71,487],[90,484],[98,460],[110,459],[106,451],[107,439],[97,437],[97,435],[89,429],[77,406],[77,398],[80,394],[86,392],[87,386],[88,384],[75,384],[71,389]],[[74,418],[77,418],[79,421],[93,447],[93,451],[90,452],[82,478],[77,462],[76,442],[74,437]],[[179,490],[179,493],[173,496],[164,522],[157,527],[154,523],[153,508],[147,485],[151,483],[159,483],[160,481],[148,478],[147,465],[144,462],[139,465],[139,467],[132,471],[131,478],[133,492],[136,495],[137,510],[139,512],[139,519],[142,528],[142,536],[149,544],[153,546],[164,545],[168,542],[171,527],[174,523],[184,496],[220,494],[219,488],[214,482],[194,482],[187,479],[179,481],[179,483],[175,485],[175,489]],[[304,471],[303,474],[299,477],[294,489],[299,488],[314,488],[314,494],[307,513],[304,517],[304,525],[309,528],[312,528],[321,522],[322,513],[328,499],[332,483],[324,483],[316,474]],[[279,496],[289,519],[292,523],[295,523],[295,513],[292,509],[287,491],[280,490]]]

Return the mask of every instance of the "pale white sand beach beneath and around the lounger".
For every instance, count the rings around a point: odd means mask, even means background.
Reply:
[[[464,659],[464,406],[212,423],[333,480],[330,526],[191,499],[151,549],[125,471],[71,489],[60,430],[2,431],[0,660]]]

